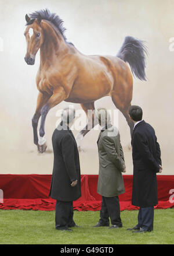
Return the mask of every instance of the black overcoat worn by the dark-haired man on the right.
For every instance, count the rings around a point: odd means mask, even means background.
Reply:
[[[132,134],[133,187],[132,205],[149,207],[158,204],[157,176],[161,150],[154,128],[144,120]]]

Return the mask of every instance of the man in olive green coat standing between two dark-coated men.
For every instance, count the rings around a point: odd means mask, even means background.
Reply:
[[[111,124],[111,117],[107,110],[100,108],[96,117],[101,132],[97,141],[99,151],[99,179],[97,193],[102,195],[100,220],[94,227],[110,226],[122,227],[118,195],[125,192],[122,172],[125,173],[124,152],[122,150],[119,131]]]

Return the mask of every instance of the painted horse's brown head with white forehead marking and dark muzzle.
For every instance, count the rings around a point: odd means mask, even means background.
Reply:
[[[27,42],[27,53],[24,58],[28,65],[34,65],[35,55],[37,54],[39,48],[44,42],[44,33],[41,27],[41,16],[37,19],[31,19],[26,14],[27,27],[24,32]]]

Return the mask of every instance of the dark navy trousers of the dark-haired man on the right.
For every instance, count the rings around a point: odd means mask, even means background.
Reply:
[[[154,229],[154,206],[140,207],[137,226],[148,231]]]

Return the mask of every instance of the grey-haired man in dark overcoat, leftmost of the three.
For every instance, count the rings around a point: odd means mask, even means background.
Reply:
[[[81,197],[81,173],[77,143],[70,127],[75,111],[66,108],[62,121],[53,132],[54,164],[49,196],[56,199],[56,229],[77,226],[73,220],[73,201]]]

